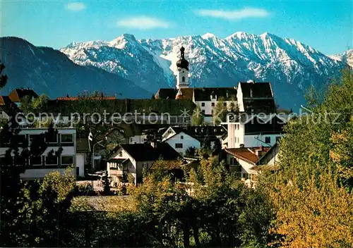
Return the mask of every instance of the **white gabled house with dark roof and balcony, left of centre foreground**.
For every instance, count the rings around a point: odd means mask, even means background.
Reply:
[[[124,173],[131,173],[138,185],[142,182],[143,170],[150,170],[155,161],[178,161],[180,158],[167,143],[120,144],[107,160],[107,172],[113,185],[121,182]]]

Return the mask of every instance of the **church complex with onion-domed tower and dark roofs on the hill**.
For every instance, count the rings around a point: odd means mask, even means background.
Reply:
[[[218,101],[224,106],[236,106],[241,112],[265,109],[266,113],[275,113],[275,100],[270,82],[239,82],[234,87],[190,87],[189,61],[185,58],[185,48],[180,48],[177,61],[177,85],[175,88],[161,88],[155,99],[191,99],[199,106],[205,116],[205,123],[212,121],[213,109]],[[253,109],[255,108],[255,109]]]

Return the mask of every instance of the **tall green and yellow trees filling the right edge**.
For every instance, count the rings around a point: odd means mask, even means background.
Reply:
[[[309,91],[309,113],[286,125],[280,172],[266,182],[282,247],[353,246],[353,74]]]

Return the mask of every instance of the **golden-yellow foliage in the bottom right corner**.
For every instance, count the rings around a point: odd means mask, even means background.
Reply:
[[[353,244],[353,198],[323,173],[306,178],[301,187],[276,185],[271,192],[277,209],[272,233],[285,235],[282,247],[349,247]],[[320,186],[318,186],[320,185]]]

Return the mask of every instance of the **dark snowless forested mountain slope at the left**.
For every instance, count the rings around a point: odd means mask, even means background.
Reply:
[[[91,45],[95,46],[97,42]],[[84,91],[116,94],[121,98],[149,98],[152,95],[119,75],[94,66],[78,66],[60,51],[34,46],[25,39],[1,37],[0,48],[0,61],[6,66],[4,73],[8,75],[1,94],[8,94],[16,87],[30,87],[38,94],[53,98],[67,94],[77,96]]]

